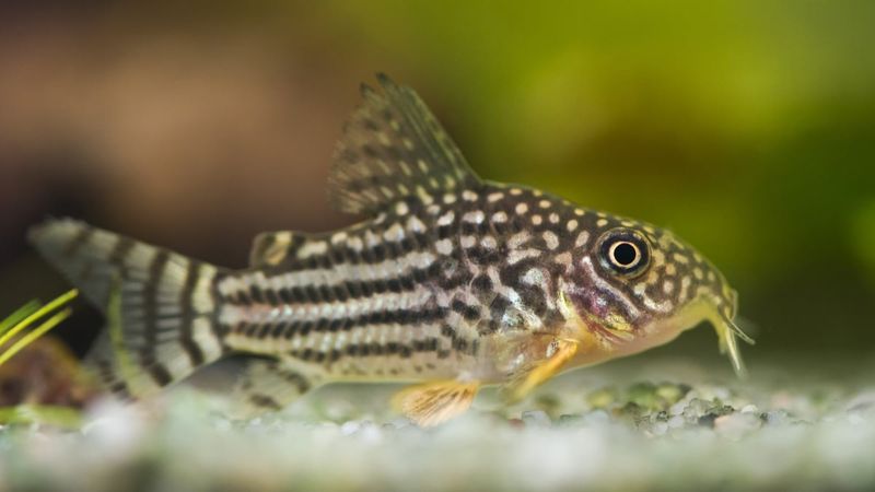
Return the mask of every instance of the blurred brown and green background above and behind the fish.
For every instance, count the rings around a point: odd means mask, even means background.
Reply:
[[[697,245],[755,360],[875,354],[875,2],[186,5],[0,3],[0,312],[67,289],[24,238],[46,215],[231,267],[258,232],[351,223],[331,150],[385,71],[481,176]]]

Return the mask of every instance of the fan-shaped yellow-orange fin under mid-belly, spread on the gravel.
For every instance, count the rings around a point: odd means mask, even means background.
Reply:
[[[470,408],[480,383],[442,380],[400,390],[393,406],[423,427],[431,427],[465,413]]]

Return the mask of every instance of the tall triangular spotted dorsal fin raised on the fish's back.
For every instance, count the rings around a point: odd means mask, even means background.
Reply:
[[[407,86],[377,74],[337,144],[328,181],[343,212],[375,213],[411,195],[477,188],[481,181],[438,119]]]

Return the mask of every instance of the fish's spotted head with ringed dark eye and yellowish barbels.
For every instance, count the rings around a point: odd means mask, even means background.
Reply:
[[[560,303],[603,353],[619,356],[667,343],[709,321],[737,374],[744,365],[734,323],[738,295],[725,277],[672,232],[598,214],[579,265],[563,279]],[[569,316],[565,316],[567,318]],[[604,359],[604,356],[603,356]]]

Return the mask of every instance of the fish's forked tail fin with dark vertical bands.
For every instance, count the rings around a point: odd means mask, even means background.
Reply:
[[[215,267],[70,219],[30,239],[106,314],[88,363],[113,393],[144,397],[222,356]]]

